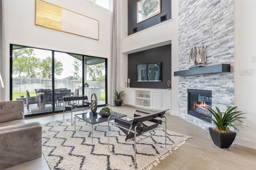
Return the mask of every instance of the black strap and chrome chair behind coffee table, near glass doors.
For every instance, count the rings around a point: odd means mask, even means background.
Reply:
[[[81,103],[79,101],[82,101]],[[65,111],[71,111],[71,125],[73,125],[73,110],[82,108],[81,110],[90,109],[90,102],[88,101],[88,97],[86,95],[80,96],[63,96],[63,119],[65,120],[64,113]]]

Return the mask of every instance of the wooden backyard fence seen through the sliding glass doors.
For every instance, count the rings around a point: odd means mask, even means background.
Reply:
[[[54,88],[68,88],[74,92],[81,84],[80,80],[55,79]],[[87,81],[89,87],[100,87],[105,92],[105,82]],[[52,79],[48,78],[12,78],[12,92],[34,92],[36,88],[52,89]]]

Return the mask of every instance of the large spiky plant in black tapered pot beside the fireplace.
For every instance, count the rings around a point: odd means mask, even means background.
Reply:
[[[241,117],[241,115],[245,113],[241,113],[242,111],[234,111],[236,107],[232,106],[228,107],[225,112],[221,112],[218,107],[216,107],[217,112],[211,107],[206,106],[206,109],[208,109],[215,118],[208,115],[205,117],[205,119],[211,120],[216,125],[216,127],[209,127],[213,143],[220,148],[229,148],[236,137],[236,133],[230,131],[229,127],[238,130],[233,123],[236,120],[242,122],[240,119],[245,119],[246,117]]]

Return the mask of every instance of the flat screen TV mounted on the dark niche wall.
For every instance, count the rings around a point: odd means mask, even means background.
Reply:
[[[137,82],[160,82],[161,74],[161,62],[136,65]]]

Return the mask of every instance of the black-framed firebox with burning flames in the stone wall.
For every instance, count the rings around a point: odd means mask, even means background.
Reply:
[[[188,89],[188,114],[211,122],[204,119],[206,115],[212,117],[212,113],[205,106],[212,107],[212,91]]]

